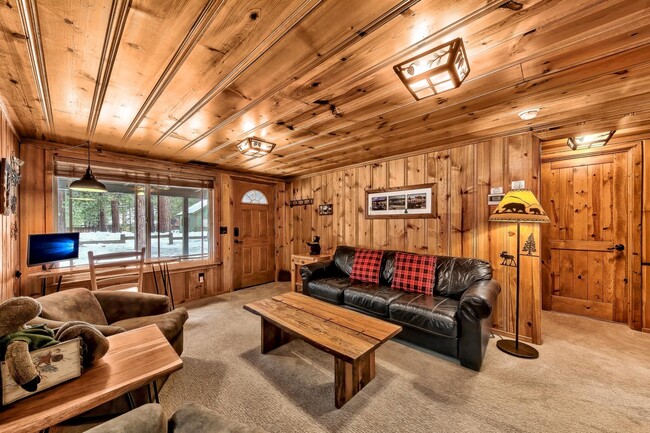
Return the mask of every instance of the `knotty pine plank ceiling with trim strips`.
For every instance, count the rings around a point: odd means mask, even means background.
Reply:
[[[649,124],[650,0],[519,2],[6,0],[0,95],[24,138],[280,177]],[[392,66],[455,37],[469,78],[416,102]]]

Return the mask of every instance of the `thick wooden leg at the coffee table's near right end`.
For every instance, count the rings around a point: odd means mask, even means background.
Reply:
[[[352,364],[334,358],[334,404],[336,408],[343,407],[374,378],[374,351],[367,353]]]

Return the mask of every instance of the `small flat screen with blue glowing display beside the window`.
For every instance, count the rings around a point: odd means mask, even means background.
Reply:
[[[79,257],[79,233],[29,235],[27,266],[44,265]]]

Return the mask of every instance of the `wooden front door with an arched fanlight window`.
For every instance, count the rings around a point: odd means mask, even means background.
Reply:
[[[234,181],[235,289],[275,280],[273,186]]]

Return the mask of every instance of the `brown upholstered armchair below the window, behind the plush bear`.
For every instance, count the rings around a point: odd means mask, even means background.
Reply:
[[[70,289],[42,296],[38,301],[43,311],[30,324],[45,323],[50,328],[58,328],[64,322],[82,320],[95,325],[106,336],[154,324],[179,355],[183,352],[187,310],[170,311],[167,296]]]

